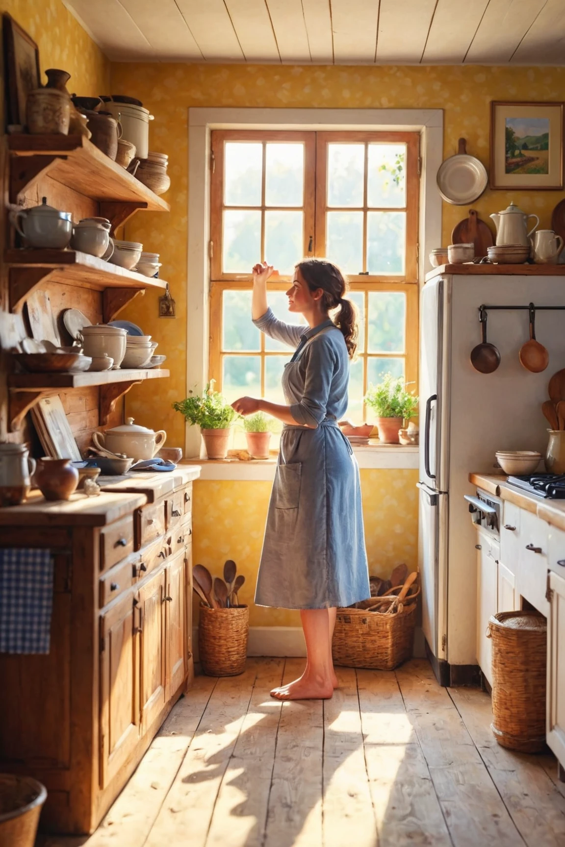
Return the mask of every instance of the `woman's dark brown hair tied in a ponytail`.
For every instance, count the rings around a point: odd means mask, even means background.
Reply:
[[[325,259],[304,259],[296,265],[310,291],[321,288],[322,307],[330,312],[339,308],[334,324],[341,329],[350,359],[357,349],[357,308],[344,297],[348,290],[346,277],[335,264]]]

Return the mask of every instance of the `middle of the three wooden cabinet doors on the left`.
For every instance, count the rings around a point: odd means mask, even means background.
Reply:
[[[146,732],[165,705],[165,569],[138,590],[141,610],[141,730]]]

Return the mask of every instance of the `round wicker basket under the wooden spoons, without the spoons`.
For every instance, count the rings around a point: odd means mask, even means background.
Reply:
[[[230,609],[200,606],[198,650],[204,673],[209,677],[235,677],[243,673],[248,635],[248,606]]]

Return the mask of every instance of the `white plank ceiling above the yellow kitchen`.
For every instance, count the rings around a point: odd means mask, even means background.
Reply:
[[[114,61],[565,64],[565,0],[64,0]]]

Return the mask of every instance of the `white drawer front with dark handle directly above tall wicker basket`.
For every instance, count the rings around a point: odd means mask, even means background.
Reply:
[[[522,510],[520,515],[518,591],[532,606],[547,615],[547,530],[537,515]]]

